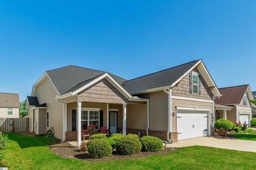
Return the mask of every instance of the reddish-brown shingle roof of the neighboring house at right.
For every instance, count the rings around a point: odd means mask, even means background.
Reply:
[[[248,88],[248,84],[242,86],[220,88],[220,98],[215,99],[215,104],[219,105],[238,105],[241,103],[242,98]]]

